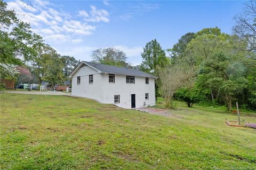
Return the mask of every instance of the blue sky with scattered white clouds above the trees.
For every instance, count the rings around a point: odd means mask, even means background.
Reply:
[[[219,27],[232,34],[245,1],[6,1],[61,55],[91,61],[97,48],[116,47],[133,66],[147,42],[164,50],[182,35]],[[168,55],[166,53],[166,55]]]

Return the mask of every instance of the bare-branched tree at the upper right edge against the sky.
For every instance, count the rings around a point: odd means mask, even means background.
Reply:
[[[256,52],[256,2],[248,2],[244,12],[236,15],[235,21],[233,32],[248,43],[249,51]],[[254,59],[256,59],[255,55]]]

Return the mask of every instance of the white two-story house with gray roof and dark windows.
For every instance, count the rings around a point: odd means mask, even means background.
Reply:
[[[83,61],[69,76],[72,95],[122,108],[155,105],[155,79],[146,72]]]

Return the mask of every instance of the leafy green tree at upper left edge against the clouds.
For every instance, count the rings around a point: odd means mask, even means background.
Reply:
[[[36,54],[34,47],[43,42],[38,34],[31,31],[29,23],[15,17],[13,10],[7,10],[7,4],[0,0],[0,62],[21,64]]]

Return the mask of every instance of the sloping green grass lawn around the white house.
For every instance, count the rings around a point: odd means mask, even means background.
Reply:
[[[1,169],[256,169],[256,130],[179,103],[171,117],[68,96],[1,94]],[[241,116],[256,123],[256,117]]]

